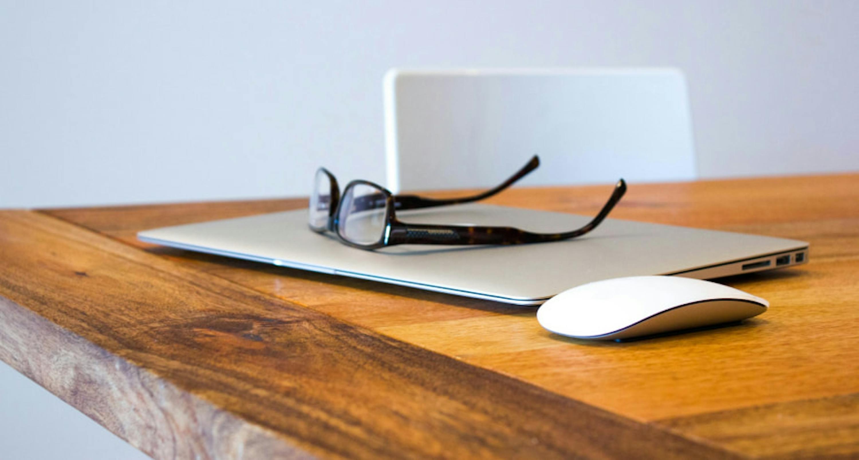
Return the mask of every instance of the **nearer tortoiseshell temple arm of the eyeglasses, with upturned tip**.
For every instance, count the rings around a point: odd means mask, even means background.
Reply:
[[[570,232],[533,233],[514,227],[465,227],[399,222],[399,225],[391,227],[387,245],[519,245],[576,238],[598,227],[620,198],[624,197],[624,193],[626,182],[620,179],[600,213],[583,227]]]

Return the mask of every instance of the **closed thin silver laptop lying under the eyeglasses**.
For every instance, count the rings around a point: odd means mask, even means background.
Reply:
[[[397,213],[401,221],[509,226],[543,233],[589,216],[461,204]],[[531,245],[396,245],[364,251],[308,228],[308,210],[162,227],[148,243],[447,294],[537,306],[591,281],[635,275],[711,279],[807,263],[808,243],[606,219],[580,238]],[[285,275],[288,272],[284,271]]]

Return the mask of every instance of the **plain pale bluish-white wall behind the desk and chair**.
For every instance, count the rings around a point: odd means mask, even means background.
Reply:
[[[392,66],[678,66],[702,177],[857,170],[857,24],[851,0],[0,0],[0,207],[383,181]]]

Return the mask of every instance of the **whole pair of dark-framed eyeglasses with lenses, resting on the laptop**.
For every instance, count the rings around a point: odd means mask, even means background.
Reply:
[[[379,249],[392,245],[519,245],[576,238],[588,233],[606,218],[626,192],[624,179],[618,180],[612,196],[600,213],[585,226],[564,233],[533,233],[514,227],[478,227],[456,225],[410,224],[397,219],[396,211],[430,208],[448,204],[471,203],[492,197],[507,189],[539,166],[539,157],[528,161],[501,185],[471,197],[428,198],[417,195],[393,195],[381,185],[367,180],[353,180],[340,195],[337,179],[320,167],[310,195],[308,223],[314,232],[333,232],[346,245],[361,249]]]

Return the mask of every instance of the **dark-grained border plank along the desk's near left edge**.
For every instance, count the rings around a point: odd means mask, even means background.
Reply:
[[[0,260],[0,359],[154,457],[731,457],[46,215]]]

